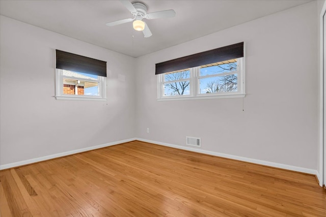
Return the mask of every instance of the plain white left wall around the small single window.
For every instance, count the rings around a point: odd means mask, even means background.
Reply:
[[[134,58],[0,20],[1,165],[134,138]],[[53,97],[55,49],[107,61],[107,104]]]

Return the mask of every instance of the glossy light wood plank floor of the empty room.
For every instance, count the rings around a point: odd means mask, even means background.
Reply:
[[[312,175],[140,141],[0,171],[7,216],[326,216]]]

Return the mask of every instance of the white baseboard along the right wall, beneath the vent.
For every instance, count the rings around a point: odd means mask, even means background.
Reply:
[[[250,163],[254,163],[254,164],[260,164],[260,165],[276,167],[276,168],[281,168],[281,169],[286,169],[286,170],[292,170],[292,171],[296,171],[296,172],[308,173],[308,174],[313,174],[313,175],[317,174],[317,170],[308,169],[308,168],[304,168],[304,167],[296,167],[296,166],[279,164],[279,163],[274,163],[274,162],[269,162],[269,161],[256,160],[256,159],[245,158],[245,157],[235,156],[235,155],[226,154],[226,153],[208,151],[208,150],[192,148],[192,147],[185,147],[185,146],[181,146],[181,145],[173,145],[173,144],[169,144],[169,143],[157,142],[157,141],[141,139],[141,138],[135,138],[135,139],[139,140],[139,141],[143,141],[143,142],[149,142],[149,143],[153,143],[153,144],[164,145],[164,146],[188,150],[188,151],[210,154],[212,156],[217,156],[217,157],[222,157],[222,158],[229,158],[229,159],[233,159],[233,160],[250,162]],[[320,179],[318,178],[318,180],[320,180]]]

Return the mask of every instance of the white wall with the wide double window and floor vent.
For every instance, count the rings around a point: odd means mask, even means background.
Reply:
[[[316,2],[137,58],[139,138],[316,170]],[[156,100],[155,63],[244,41],[247,96]],[[150,133],[146,133],[146,128]]]

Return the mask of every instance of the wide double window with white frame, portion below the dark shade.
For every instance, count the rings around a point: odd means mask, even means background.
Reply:
[[[158,99],[244,96],[243,57],[158,75]]]

